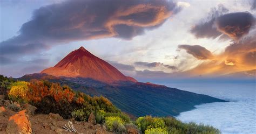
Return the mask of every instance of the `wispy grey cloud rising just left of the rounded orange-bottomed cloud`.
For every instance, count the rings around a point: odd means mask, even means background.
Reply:
[[[218,9],[212,8],[211,11],[208,13],[208,17],[206,20],[201,20],[200,23],[194,25],[191,29],[191,33],[196,36],[196,38],[217,38],[222,33],[217,31],[215,26],[215,20],[217,17],[223,15],[224,13],[228,12],[228,9],[225,8],[224,5],[219,4]]]

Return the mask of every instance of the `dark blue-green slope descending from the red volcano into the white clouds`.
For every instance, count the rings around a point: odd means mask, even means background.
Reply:
[[[194,105],[226,102],[207,95],[142,82],[113,86],[81,77],[55,77],[42,73],[24,75],[18,80],[30,81],[33,79],[66,84],[74,90],[91,96],[102,95],[119,109],[137,117],[145,115],[177,116],[180,112],[194,109]]]

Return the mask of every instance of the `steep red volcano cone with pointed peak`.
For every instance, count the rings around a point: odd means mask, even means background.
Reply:
[[[52,76],[83,77],[105,83],[137,82],[125,76],[106,61],[96,57],[84,47],[72,51],[54,67],[44,69],[41,73]]]

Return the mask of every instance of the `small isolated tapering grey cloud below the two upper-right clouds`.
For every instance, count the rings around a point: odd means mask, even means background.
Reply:
[[[197,58],[198,60],[208,60],[214,58],[210,51],[199,45],[179,45],[178,48],[186,50],[188,54],[193,55],[193,57]]]

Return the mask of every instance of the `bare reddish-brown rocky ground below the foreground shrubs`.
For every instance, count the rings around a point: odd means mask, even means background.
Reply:
[[[106,131],[104,125],[93,123],[94,116],[88,122],[77,122],[58,114],[35,114],[35,110],[32,105],[12,103],[0,95],[0,133],[75,133],[63,128],[65,125],[69,128],[69,121],[77,133],[112,133]]]

